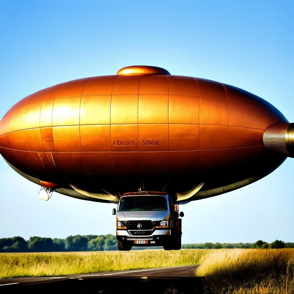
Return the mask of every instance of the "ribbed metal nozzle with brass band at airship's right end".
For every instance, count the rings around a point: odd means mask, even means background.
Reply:
[[[294,158],[294,123],[280,122],[270,125],[263,133],[265,148]]]

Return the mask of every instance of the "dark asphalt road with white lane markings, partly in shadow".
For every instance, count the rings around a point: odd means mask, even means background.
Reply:
[[[0,293],[86,291],[87,293],[201,293],[198,265],[41,278],[0,279]]]

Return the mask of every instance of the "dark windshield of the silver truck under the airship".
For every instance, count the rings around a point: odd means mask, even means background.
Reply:
[[[119,203],[118,211],[153,211],[167,210],[164,196],[124,196]]]

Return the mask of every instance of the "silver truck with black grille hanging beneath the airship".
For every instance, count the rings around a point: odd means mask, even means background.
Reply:
[[[181,249],[181,219],[178,205],[166,192],[133,192],[121,197],[116,214],[118,250],[132,246],[163,246]]]

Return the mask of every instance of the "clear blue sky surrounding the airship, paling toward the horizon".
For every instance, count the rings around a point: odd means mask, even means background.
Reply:
[[[0,0],[0,117],[57,83],[154,65],[254,93],[294,122],[293,1]],[[294,159],[239,190],[180,206],[182,243],[294,242]],[[0,238],[115,234],[113,204],[54,193],[0,159]]]

